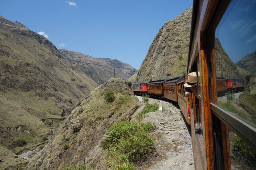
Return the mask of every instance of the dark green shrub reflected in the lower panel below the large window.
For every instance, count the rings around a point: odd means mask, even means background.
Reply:
[[[233,147],[235,150],[245,155],[249,159],[256,159],[256,152],[254,152],[250,146],[248,146],[240,137],[234,139]]]

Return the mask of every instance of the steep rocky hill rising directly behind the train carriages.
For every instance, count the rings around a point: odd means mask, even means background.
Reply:
[[[192,7],[161,27],[141,64],[137,82],[174,77],[186,71],[191,17]]]

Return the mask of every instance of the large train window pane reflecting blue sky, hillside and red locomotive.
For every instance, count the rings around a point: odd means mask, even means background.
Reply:
[[[256,1],[230,2],[215,31],[217,104],[256,127]]]

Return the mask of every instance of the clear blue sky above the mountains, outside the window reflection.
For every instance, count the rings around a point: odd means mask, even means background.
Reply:
[[[191,6],[192,0],[0,0],[0,15],[43,32],[57,48],[139,69],[161,26]]]

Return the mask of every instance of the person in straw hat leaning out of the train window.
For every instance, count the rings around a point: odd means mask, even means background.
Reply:
[[[185,90],[197,95],[198,77],[200,72],[192,72],[187,75],[187,82],[184,84]]]

